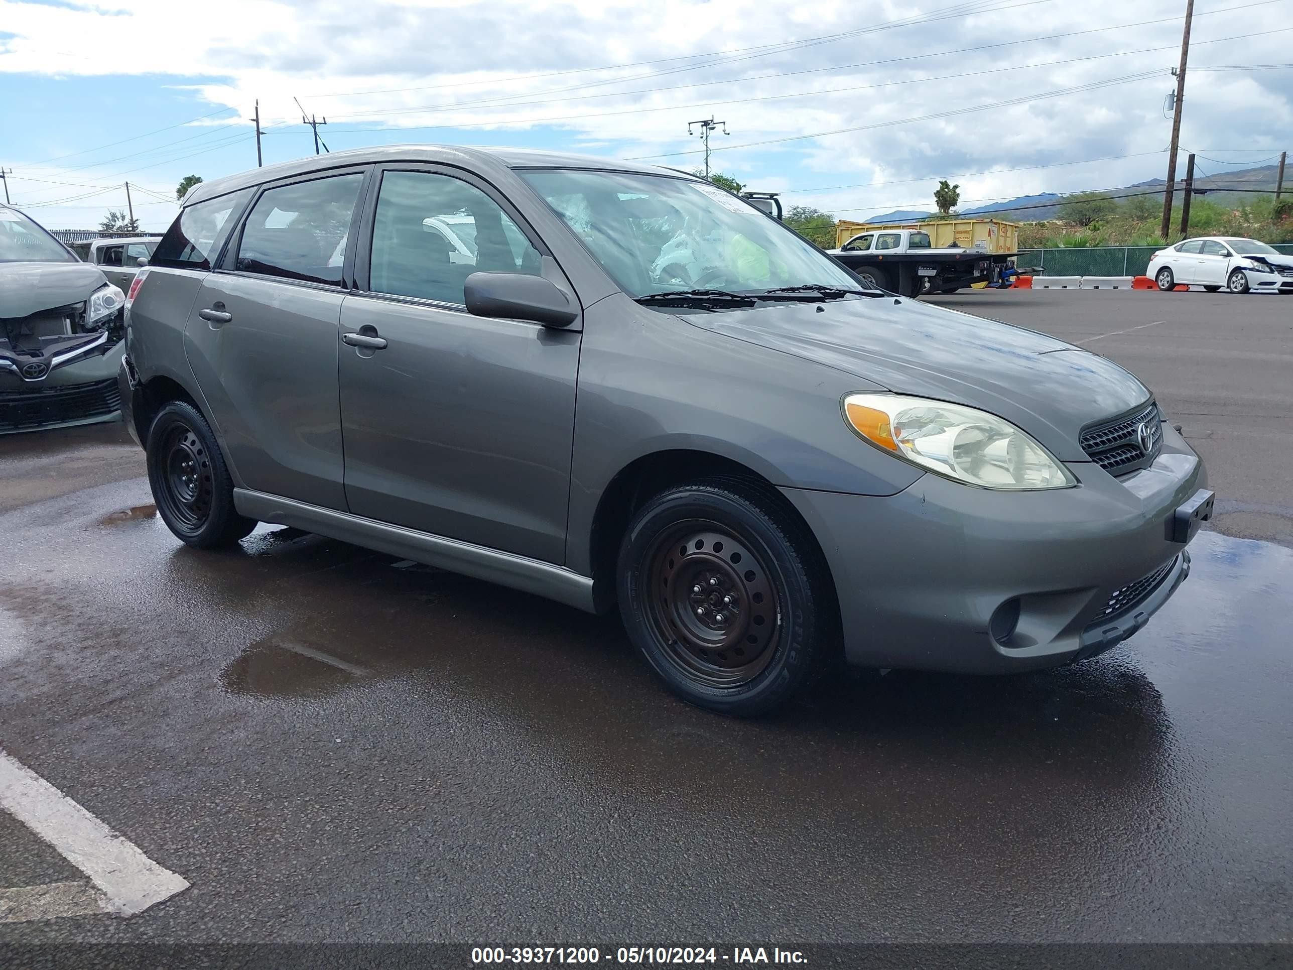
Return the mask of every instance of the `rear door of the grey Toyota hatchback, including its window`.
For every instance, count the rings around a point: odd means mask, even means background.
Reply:
[[[203,279],[189,362],[250,489],[345,510],[337,393],[344,260],[363,169],[266,188]]]

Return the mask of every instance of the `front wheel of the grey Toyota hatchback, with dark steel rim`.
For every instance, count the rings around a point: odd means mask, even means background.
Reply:
[[[700,707],[765,714],[840,656],[830,574],[778,498],[737,479],[672,488],[643,506],[621,543],[628,638]]]

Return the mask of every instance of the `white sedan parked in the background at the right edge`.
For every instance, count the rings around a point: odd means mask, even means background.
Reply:
[[[1293,256],[1256,239],[1205,235],[1159,250],[1147,275],[1160,290],[1193,283],[1208,292],[1293,294]]]

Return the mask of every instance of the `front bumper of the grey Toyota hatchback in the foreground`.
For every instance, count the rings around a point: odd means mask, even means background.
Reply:
[[[826,555],[848,661],[1003,674],[1140,630],[1188,576],[1171,521],[1206,486],[1199,457],[1170,424],[1162,433],[1155,463],[1121,479],[1069,464],[1073,489],[990,491],[936,475],[890,497],[782,489]],[[1018,621],[1002,623],[1014,603]]]

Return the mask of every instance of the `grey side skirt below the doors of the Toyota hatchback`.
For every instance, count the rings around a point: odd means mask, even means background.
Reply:
[[[533,592],[588,613],[597,612],[593,607],[592,579],[551,563],[251,489],[234,489],[234,507],[239,515],[261,523],[291,525],[451,573]]]

